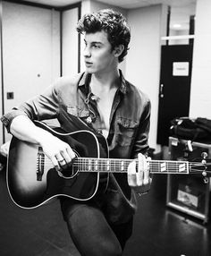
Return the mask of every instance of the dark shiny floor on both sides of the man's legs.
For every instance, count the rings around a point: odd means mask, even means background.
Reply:
[[[166,208],[165,187],[165,175],[156,175],[151,191],[139,198],[134,233],[123,256],[211,255],[211,224],[203,226],[195,218]],[[72,245],[59,203],[20,209],[9,198],[4,171],[0,172],[0,255],[80,255]]]

